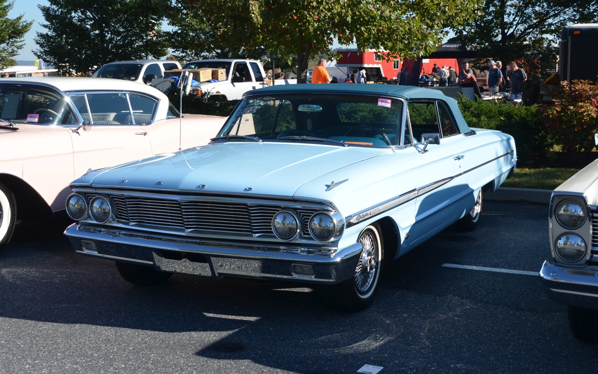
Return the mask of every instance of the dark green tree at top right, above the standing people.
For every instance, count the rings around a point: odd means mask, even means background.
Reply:
[[[551,44],[565,26],[598,20],[598,1],[495,0],[478,11],[463,27],[451,27],[455,39],[480,46],[479,55],[502,60],[503,69],[508,61],[526,59],[536,70],[540,62],[556,64],[558,50]]]

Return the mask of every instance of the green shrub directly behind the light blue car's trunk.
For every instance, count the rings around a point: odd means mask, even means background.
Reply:
[[[471,101],[462,95],[457,103],[469,127],[500,130],[511,135],[520,160],[525,160],[530,153],[545,152],[553,145],[537,104],[526,107],[507,101]]]

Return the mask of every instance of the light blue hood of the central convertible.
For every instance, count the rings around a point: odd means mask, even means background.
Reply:
[[[313,178],[389,152],[279,142],[215,142],[91,172],[73,184],[290,197]]]

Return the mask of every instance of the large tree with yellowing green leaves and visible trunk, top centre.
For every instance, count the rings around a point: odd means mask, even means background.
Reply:
[[[196,14],[215,33],[218,45],[264,47],[282,56],[297,56],[298,75],[307,81],[310,57],[340,44],[359,50],[389,51],[387,59],[424,56],[446,36],[444,28],[459,28],[472,13],[463,8],[481,0],[171,0]]]

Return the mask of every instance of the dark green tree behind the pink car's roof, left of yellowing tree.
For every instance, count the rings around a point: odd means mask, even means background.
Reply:
[[[48,0],[38,5],[48,32],[33,51],[62,74],[82,74],[119,60],[166,56],[162,9],[144,0]]]

